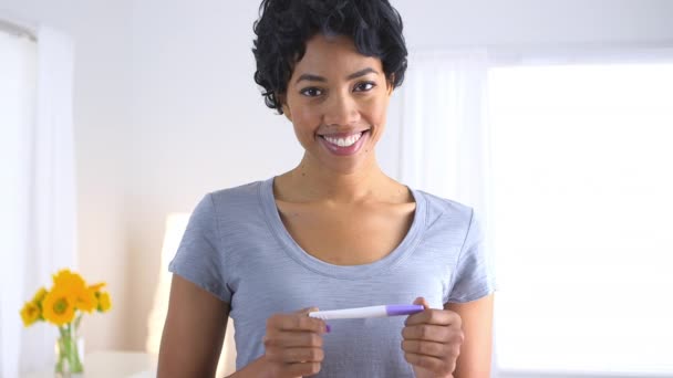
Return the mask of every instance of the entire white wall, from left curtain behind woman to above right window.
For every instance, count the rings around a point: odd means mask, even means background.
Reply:
[[[673,43],[666,0],[392,2],[412,52]],[[0,0],[6,9],[76,39],[81,265],[116,297],[113,313],[87,319],[87,343],[143,349],[166,214],[189,211],[209,190],[290,169],[301,156],[291,126],[265,107],[252,81],[258,1]],[[393,176],[397,101],[380,147]]]

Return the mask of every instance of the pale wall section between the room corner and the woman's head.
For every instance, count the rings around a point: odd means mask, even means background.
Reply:
[[[151,309],[168,212],[191,211],[207,191],[270,177],[301,156],[252,81],[256,12],[252,1],[134,3],[133,318]],[[130,326],[131,344],[143,347],[145,323]]]

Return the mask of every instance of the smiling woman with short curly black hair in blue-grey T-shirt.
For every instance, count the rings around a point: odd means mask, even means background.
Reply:
[[[387,0],[265,0],[256,82],[306,153],[290,171],[207,195],[170,264],[159,377],[488,377],[493,276],[472,209],[410,189],[375,146],[402,84]],[[311,311],[421,304],[407,317]]]

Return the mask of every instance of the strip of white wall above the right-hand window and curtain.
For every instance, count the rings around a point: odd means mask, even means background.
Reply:
[[[412,50],[673,42],[667,0],[392,0]]]

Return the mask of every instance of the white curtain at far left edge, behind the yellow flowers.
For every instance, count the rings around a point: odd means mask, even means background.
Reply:
[[[23,328],[19,309],[51,274],[76,267],[73,41],[0,32],[0,376],[53,363],[55,327]]]

